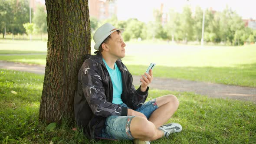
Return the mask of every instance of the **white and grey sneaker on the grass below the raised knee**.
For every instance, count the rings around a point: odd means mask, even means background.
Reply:
[[[182,126],[181,124],[178,124],[178,123],[170,123],[170,124],[162,125],[158,129],[164,131],[164,136],[168,137],[172,133],[181,132]]]

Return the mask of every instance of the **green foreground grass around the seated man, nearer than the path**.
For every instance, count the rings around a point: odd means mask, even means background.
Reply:
[[[87,140],[69,122],[47,128],[39,122],[43,75],[0,69],[0,141],[5,143],[132,144],[131,141]],[[11,93],[17,92],[17,94]],[[256,143],[256,105],[249,101],[208,98],[187,92],[151,89],[147,100],[174,94],[180,106],[168,122],[182,124],[181,133],[151,144]]]

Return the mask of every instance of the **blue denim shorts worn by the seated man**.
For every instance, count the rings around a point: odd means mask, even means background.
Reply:
[[[122,107],[127,107],[126,104],[121,104]],[[147,118],[158,108],[156,104],[156,99],[152,99],[141,105],[141,107],[137,108],[135,111],[143,113]],[[105,122],[105,128],[102,129],[102,134],[98,138],[102,139],[126,139],[132,140],[134,137],[131,135],[130,124],[132,118],[135,116],[117,116],[112,115],[109,116]]]

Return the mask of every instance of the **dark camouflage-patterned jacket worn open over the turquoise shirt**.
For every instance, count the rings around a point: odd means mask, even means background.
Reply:
[[[122,101],[129,108],[141,106],[148,96],[135,89],[132,76],[120,59],[116,61],[122,75]],[[88,55],[78,73],[78,84],[74,98],[75,120],[87,138],[101,134],[105,120],[111,115],[127,115],[127,108],[113,104],[113,85],[101,55]]]

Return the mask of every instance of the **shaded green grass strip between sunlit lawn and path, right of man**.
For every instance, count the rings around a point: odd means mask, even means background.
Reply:
[[[127,65],[133,75],[141,75],[148,66]],[[256,63],[237,67],[167,67],[157,65],[153,77],[187,79],[226,85],[256,87]]]

